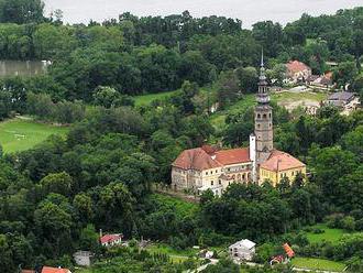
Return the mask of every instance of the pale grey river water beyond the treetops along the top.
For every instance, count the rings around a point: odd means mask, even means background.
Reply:
[[[339,9],[363,6],[363,0],[43,0],[46,13],[61,9],[67,23],[87,23],[118,18],[130,11],[135,15],[168,15],[185,10],[194,17],[224,15],[240,19],[250,29],[258,21],[286,24],[306,12],[332,14]]]

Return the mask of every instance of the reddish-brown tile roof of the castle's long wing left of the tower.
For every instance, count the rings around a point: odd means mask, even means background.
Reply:
[[[172,165],[183,170],[204,171],[251,161],[248,148],[211,152],[212,150],[206,146],[185,150]]]

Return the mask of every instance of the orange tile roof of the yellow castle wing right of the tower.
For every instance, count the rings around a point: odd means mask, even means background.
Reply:
[[[288,153],[275,150],[271,153],[268,160],[261,164],[261,167],[273,172],[280,172],[305,167],[305,164]]]

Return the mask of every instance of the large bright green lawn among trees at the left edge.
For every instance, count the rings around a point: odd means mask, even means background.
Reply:
[[[51,134],[66,134],[68,128],[37,123],[31,119],[11,119],[0,122],[0,144],[4,153],[29,150]]]

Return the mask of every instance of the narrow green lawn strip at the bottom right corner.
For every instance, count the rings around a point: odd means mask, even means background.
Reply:
[[[294,258],[292,264],[296,267],[308,269],[308,270],[326,270],[342,272],[345,267],[343,263],[333,262],[323,259],[314,258]]]

